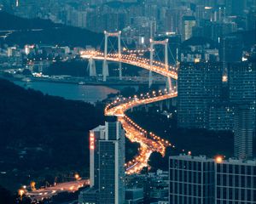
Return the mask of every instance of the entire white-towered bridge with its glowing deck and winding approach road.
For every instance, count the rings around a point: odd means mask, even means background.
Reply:
[[[148,70],[148,87],[150,88],[153,83],[153,74],[155,72],[163,77],[166,77],[165,90],[153,91],[152,93],[135,95],[130,98],[117,98],[105,108],[106,116],[117,116],[119,122],[122,123],[125,129],[125,136],[131,142],[140,144],[139,152],[132,161],[125,164],[126,173],[139,173],[143,167],[148,167],[148,159],[152,152],[159,152],[162,156],[166,154],[166,147],[172,145],[169,141],[161,139],[159,136],[151,133],[143,127],[139,127],[136,122],[125,115],[125,111],[137,107],[139,105],[147,105],[154,102],[159,102],[166,99],[177,97],[177,86],[172,86],[174,80],[177,81],[177,67],[169,65],[168,60],[168,39],[163,41],[154,41],[150,39],[150,57],[149,59],[137,56],[136,54],[122,54],[121,48],[121,31],[108,32],[105,31],[104,52],[96,50],[84,50],[81,52],[81,58],[89,60],[89,73],[90,77],[96,77],[95,60],[102,61],[102,77],[106,82],[109,76],[108,62],[115,62],[119,64],[119,79],[122,80],[122,64],[135,65],[137,67]],[[108,38],[116,37],[118,39],[118,50],[115,53],[108,53]],[[164,47],[165,61],[164,63],[159,60],[154,60],[154,47],[160,45]],[[133,52],[134,53],[134,52]]]

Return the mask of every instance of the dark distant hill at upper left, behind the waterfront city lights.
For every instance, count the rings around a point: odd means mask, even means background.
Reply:
[[[0,11],[0,30],[12,32],[0,38],[0,47],[25,44],[48,44],[70,47],[96,47],[101,44],[102,33],[95,33],[78,27],[55,24],[50,20],[24,19]]]

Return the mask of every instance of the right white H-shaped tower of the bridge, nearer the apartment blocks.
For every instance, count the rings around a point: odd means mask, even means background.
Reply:
[[[163,45],[165,46],[165,67],[166,70],[169,70],[169,61],[168,61],[168,39],[164,41],[154,41],[150,39],[150,66],[153,66],[154,60],[154,45]],[[150,88],[153,82],[152,71],[149,71],[148,87]],[[167,77],[166,87],[169,91],[172,90],[172,81],[171,77]]]

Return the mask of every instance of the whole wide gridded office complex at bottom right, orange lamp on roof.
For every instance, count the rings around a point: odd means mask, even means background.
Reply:
[[[169,157],[169,204],[256,203],[256,160]]]

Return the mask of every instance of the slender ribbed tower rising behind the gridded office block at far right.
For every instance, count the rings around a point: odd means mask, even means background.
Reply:
[[[247,159],[253,156],[253,112],[249,106],[238,106],[234,122],[235,156]]]

